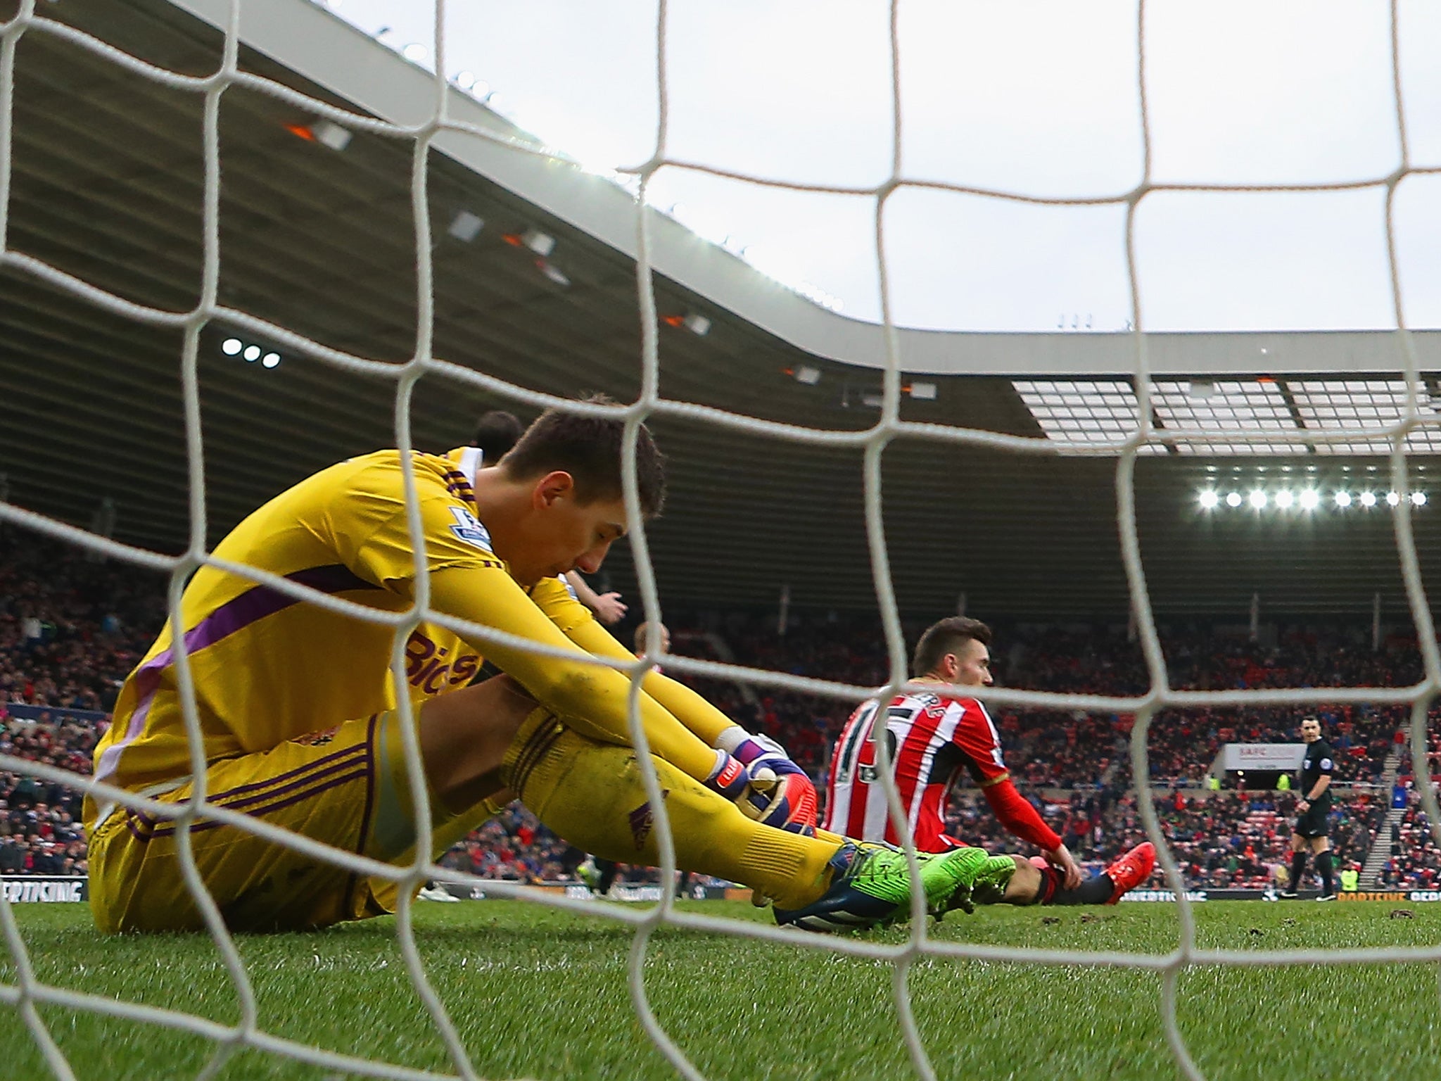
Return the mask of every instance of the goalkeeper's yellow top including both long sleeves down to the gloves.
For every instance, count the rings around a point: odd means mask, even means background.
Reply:
[[[589,654],[631,660],[595,623],[563,578],[522,588],[491,551],[476,516],[480,451],[412,455],[431,582],[431,610],[504,631],[556,651],[494,641],[490,659],[540,705],[576,731],[628,744],[625,675],[586,664]],[[408,530],[401,457],[376,451],[331,466],[281,493],[238,525],[215,549],[331,597],[399,611],[411,604],[415,553]],[[405,643],[402,692],[391,679],[392,627],[301,601],[249,578],[202,566],[180,602],[186,653],[203,739],[213,762],[265,751],[344,721],[465,686],[480,650],[434,623]],[[170,627],[125,680],[114,722],[95,748],[95,777],[147,788],[190,775]],[[687,688],[646,677],[641,724],[653,754],[696,778],[715,767],[712,742],[729,721]],[[86,826],[98,810],[86,800]]]

